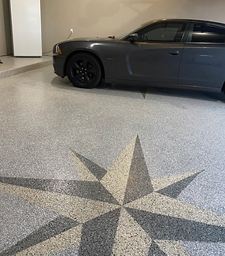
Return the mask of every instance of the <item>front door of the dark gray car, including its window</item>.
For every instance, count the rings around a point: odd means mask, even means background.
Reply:
[[[120,43],[118,80],[178,83],[186,22],[160,22],[138,31],[138,41]]]

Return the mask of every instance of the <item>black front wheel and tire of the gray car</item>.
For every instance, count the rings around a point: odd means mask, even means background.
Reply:
[[[75,54],[68,61],[67,76],[75,87],[93,88],[101,80],[101,66],[90,54]]]

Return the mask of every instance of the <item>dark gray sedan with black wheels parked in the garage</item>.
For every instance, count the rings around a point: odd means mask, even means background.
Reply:
[[[225,90],[225,24],[153,20],[119,36],[53,46],[54,72],[76,87],[106,83]]]

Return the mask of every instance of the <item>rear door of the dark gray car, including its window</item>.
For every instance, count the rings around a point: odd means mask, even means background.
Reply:
[[[221,89],[225,81],[225,29],[194,23],[179,70],[179,84]],[[215,91],[216,91],[215,90]]]

